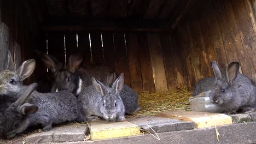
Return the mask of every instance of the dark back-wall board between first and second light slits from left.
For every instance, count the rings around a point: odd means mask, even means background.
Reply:
[[[62,32],[48,32],[47,39],[48,54],[65,64],[64,34]]]

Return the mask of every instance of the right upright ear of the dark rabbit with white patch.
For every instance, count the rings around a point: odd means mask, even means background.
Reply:
[[[82,55],[71,55],[68,58],[68,69],[72,73],[75,73],[77,69],[81,67],[81,64],[83,62],[83,56]]]

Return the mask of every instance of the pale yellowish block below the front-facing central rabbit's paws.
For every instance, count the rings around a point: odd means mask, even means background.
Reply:
[[[138,125],[124,122],[91,122],[91,140],[110,139],[115,137],[136,136],[141,133]]]

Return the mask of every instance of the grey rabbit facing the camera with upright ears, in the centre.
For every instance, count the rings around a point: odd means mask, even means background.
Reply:
[[[81,106],[84,121],[91,121],[94,116],[107,121],[124,121],[125,106],[120,98],[124,85],[124,74],[114,81],[112,87],[106,87],[94,77],[92,86],[85,87],[78,96],[78,105]]]

